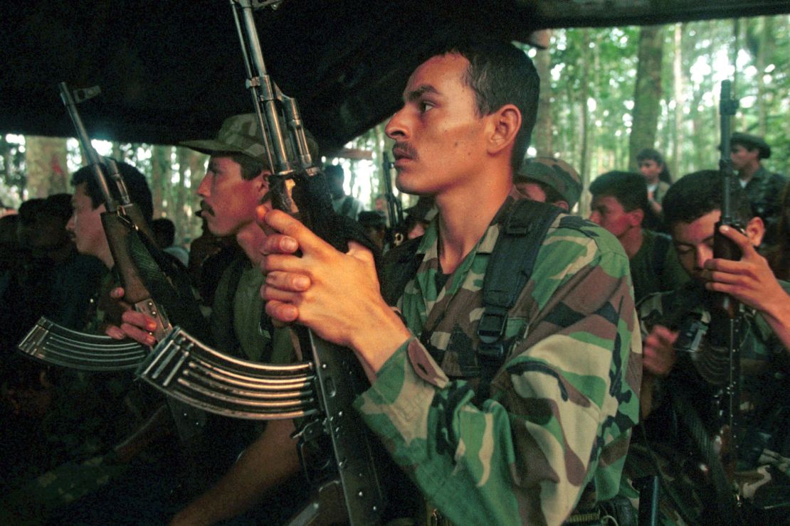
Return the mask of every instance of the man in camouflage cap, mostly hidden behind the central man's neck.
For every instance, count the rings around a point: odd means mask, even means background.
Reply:
[[[562,159],[536,157],[525,159],[513,177],[513,185],[531,200],[551,203],[568,212],[581,196],[581,177]]]

